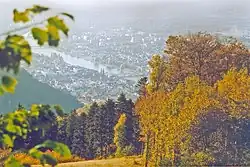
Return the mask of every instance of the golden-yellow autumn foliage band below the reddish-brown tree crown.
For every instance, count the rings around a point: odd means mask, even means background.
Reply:
[[[246,69],[229,70],[215,86],[190,76],[171,92],[155,91],[140,97],[135,109],[144,135],[150,134],[152,162],[157,164],[161,157],[167,157],[174,164],[177,153],[188,149],[191,126],[210,110],[249,117],[249,100],[250,76]]]

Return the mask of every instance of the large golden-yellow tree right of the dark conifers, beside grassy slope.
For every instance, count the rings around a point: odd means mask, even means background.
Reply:
[[[181,147],[190,137],[191,123],[214,104],[211,95],[212,87],[198,77],[189,77],[170,93],[158,91],[139,99],[136,111],[147,137],[147,158],[158,164],[161,157],[167,157],[177,165]]]

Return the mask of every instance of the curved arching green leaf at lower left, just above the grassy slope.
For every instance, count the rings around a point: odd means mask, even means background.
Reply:
[[[59,153],[61,156],[64,156],[64,157],[71,156],[71,153],[70,153],[68,146],[66,146],[65,144],[59,143],[59,142],[51,141],[51,140],[46,140],[43,144],[37,145],[35,148],[36,149],[50,148],[53,151]]]

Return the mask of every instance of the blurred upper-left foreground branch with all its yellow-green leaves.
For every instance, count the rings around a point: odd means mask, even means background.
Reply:
[[[28,8],[23,12],[14,9],[13,21],[15,23],[26,24],[31,21],[34,16],[48,10],[50,9],[39,5],[34,5],[32,8]],[[29,42],[22,35],[13,33],[31,28],[30,31],[32,36],[37,40],[37,43],[40,46],[47,43],[49,46],[57,47],[61,39],[59,33],[62,32],[64,35],[68,36],[69,32],[68,26],[61,18],[62,16],[74,20],[74,17],[68,13],[59,13],[58,15],[49,17],[41,22],[25,25],[0,34],[0,36],[6,36],[4,40],[0,41],[0,69],[4,71],[3,74],[0,74],[0,95],[5,92],[14,93],[17,85],[17,80],[12,76],[7,75],[6,72],[13,71],[14,74],[17,74],[22,61],[28,65],[30,65],[32,61],[32,50]],[[38,25],[45,25],[45,27],[34,27]]]

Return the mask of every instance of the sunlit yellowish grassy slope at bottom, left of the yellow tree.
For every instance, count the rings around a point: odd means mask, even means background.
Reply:
[[[58,167],[143,167],[143,164],[141,158],[130,157],[65,163],[58,165]]]

